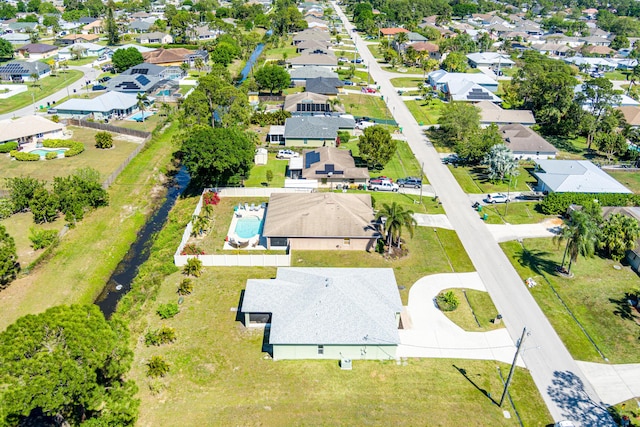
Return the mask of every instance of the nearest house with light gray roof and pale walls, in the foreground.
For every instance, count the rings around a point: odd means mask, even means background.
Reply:
[[[274,360],[389,360],[402,302],[391,268],[279,268],[249,279],[245,326],[269,325]]]

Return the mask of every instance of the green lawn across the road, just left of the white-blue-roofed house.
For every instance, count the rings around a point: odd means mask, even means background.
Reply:
[[[531,166],[520,164],[520,175],[511,180],[511,191],[530,191],[529,185],[536,182],[536,179],[528,171]],[[486,177],[484,166],[449,166],[456,181],[465,193],[506,193],[509,182],[492,183]]]

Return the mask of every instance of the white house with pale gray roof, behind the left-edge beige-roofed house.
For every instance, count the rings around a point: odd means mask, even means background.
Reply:
[[[138,111],[138,99],[135,94],[106,92],[93,99],[72,98],[58,105],[56,110],[61,116],[109,120]]]

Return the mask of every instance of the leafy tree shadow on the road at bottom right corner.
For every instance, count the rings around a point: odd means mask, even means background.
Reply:
[[[555,371],[547,393],[562,411],[563,418],[584,426],[615,425],[607,408],[587,394],[582,379],[573,372]]]

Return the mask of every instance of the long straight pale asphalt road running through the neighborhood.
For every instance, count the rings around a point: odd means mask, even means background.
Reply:
[[[614,426],[613,419],[573,360],[560,337],[536,304],[529,290],[493,239],[478,215],[469,207],[462,191],[440,156],[424,136],[397,89],[389,82],[390,73],[382,70],[362,38],[353,33],[353,25],[332,2],[343,25],[354,39],[389,110],[403,128],[418,161],[424,162],[429,183],[440,197],[447,216],[478,271],[484,285],[502,314],[514,342],[526,326],[522,358],[555,421],[571,420],[583,426]]]

